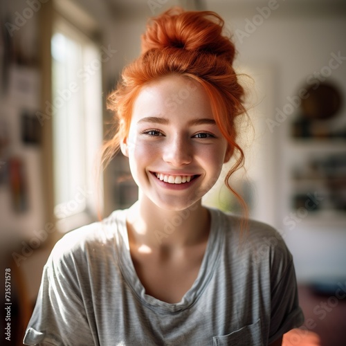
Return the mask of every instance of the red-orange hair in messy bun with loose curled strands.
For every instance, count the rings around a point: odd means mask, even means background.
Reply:
[[[185,75],[203,86],[210,98],[215,121],[228,141],[235,164],[225,183],[244,207],[242,197],[231,188],[230,176],[244,164],[244,152],[237,143],[235,119],[246,113],[244,89],[233,69],[235,46],[222,35],[224,21],[215,12],[185,11],[172,8],[151,19],[142,36],[142,52],[122,71],[122,80],[111,95],[109,109],[114,111],[118,129],[104,144],[102,163],[109,163],[127,136],[134,100],[147,83],[165,75]]]

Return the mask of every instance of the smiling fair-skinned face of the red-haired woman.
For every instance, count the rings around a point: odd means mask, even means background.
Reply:
[[[141,89],[120,147],[129,157],[140,202],[165,210],[201,203],[230,158],[203,87],[177,75]]]

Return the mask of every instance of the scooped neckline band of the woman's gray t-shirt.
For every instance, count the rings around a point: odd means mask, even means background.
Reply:
[[[204,289],[206,289],[212,275],[215,273],[215,267],[217,266],[220,257],[219,255],[221,253],[221,244],[224,244],[220,234],[220,230],[222,229],[222,227],[220,227],[220,212],[213,208],[208,208],[208,210],[210,212],[210,233],[208,235],[206,252],[203,255],[199,273],[190,289],[185,293],[185,295],[183,295],[181,301],[176,303],[163,302],[162,300],[158,300],[157,298],[152,297],[152,295],[147,295],[145,293],[145,288],[138,278],[129,251],[129,237],[126,226],[128,209],[118,210],[116,215],[114,215],[117,224],[116,253],[118,254],[120,270],[129,285],[129,288],[136,295],[136,298],[150,309],[161,312],[182,311],[194,304],[194,302],[201,296]]]

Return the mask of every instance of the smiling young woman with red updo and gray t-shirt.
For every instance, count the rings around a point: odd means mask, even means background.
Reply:
[[[244,159],[223,24],[179,8],[150,22],[110,97],[119,128],[104,147],[105,161],[119,147],[129,158],[138,201],[56,244],[26,345],[281,345],[302,324],[280,235],[201,204],[224,163],[236,157],[230,188]]]

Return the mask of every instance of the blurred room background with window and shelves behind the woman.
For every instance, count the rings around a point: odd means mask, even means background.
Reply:
[[[98,174],[106,99],[140,53],[147,18],[175,5],[224,18],[236,69],[252,78],[242,78],[254,129],[240,131],[246,176],[232,183],[293,254],[302,331],[346,345],[342,0],[1,0],[0,256],[11,273],[12,344],[21,345],[55,242],[137,198],[121,155]],[[205,203],[239,212],[222,183]]]

